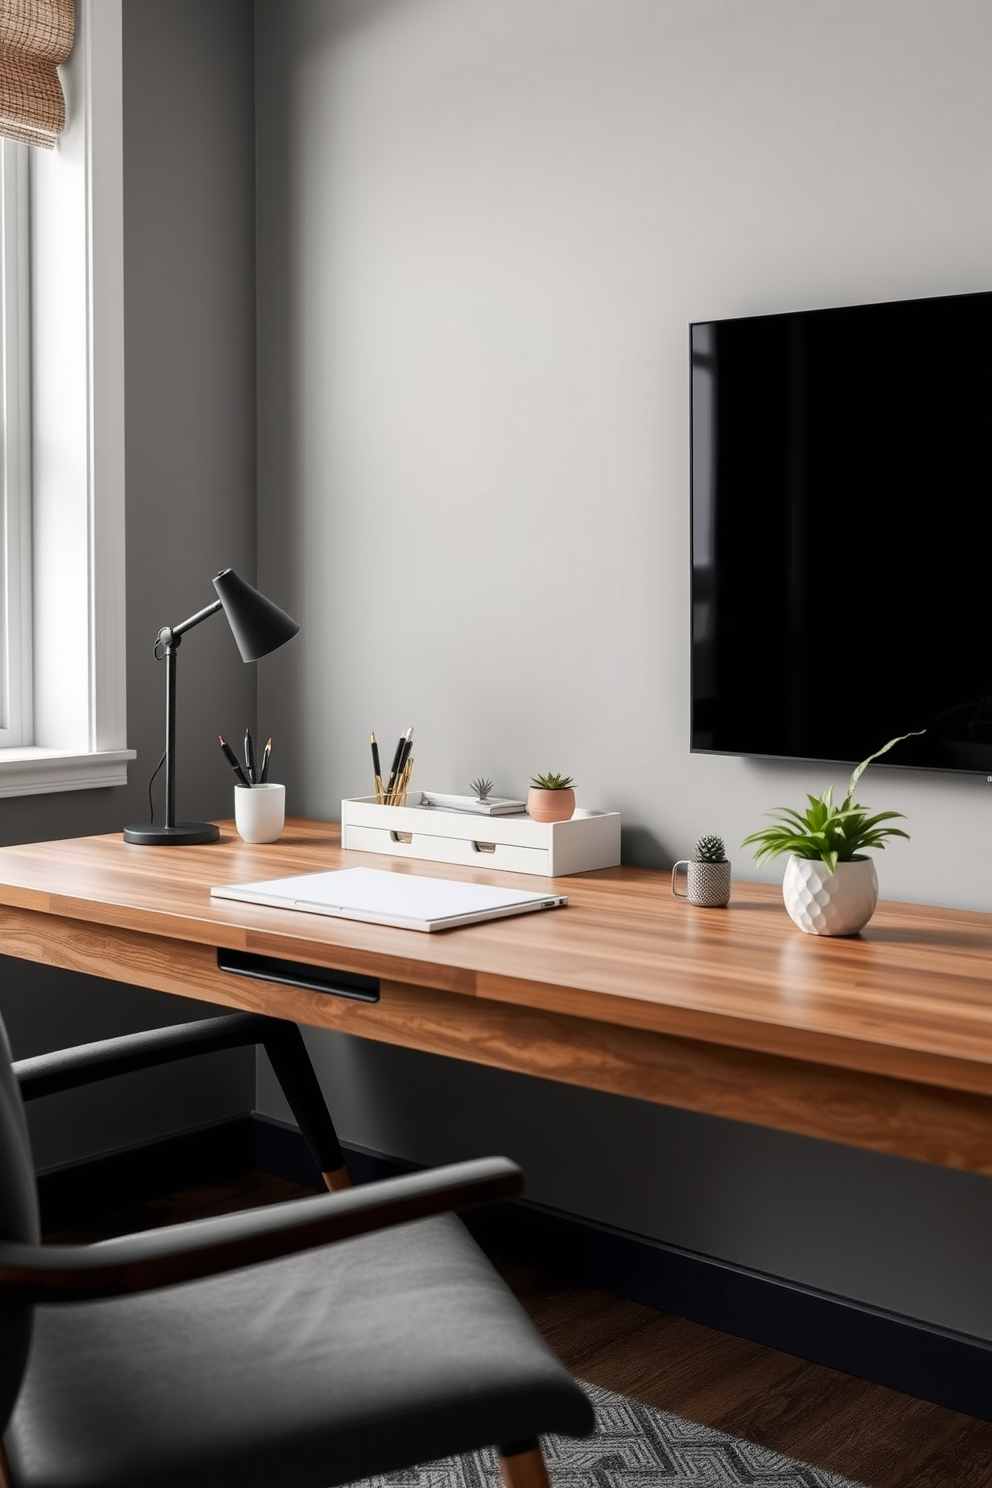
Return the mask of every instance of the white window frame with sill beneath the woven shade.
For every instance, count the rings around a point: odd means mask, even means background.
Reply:
[[[82,0],[67,126],[30,152],[31,744],[0,796],[126,784],[120,0]]]

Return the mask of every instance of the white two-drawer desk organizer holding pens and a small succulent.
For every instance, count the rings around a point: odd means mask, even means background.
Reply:
[[[381,806],[375,796],[341,802],[341,845],[361,853],[421,857],[509,873],[586,873],[620,862],[620,812],[576,808],[571,821],[482,817],[421,809],[419,790],[405,806]]]

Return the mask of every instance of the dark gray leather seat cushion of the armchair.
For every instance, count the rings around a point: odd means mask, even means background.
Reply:
[[[454,1216],[37,1308],[16,1488],[332,1488],[592,1411]]]

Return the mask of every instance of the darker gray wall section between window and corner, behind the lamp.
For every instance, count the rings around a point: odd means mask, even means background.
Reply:
[[[195,39],[196,45],[190,45]],[[254,37],[248,0],[123,0],[128,786],[0,801],[0,841],[147,820],[164,748],[161,625],[254,577]],[[254,726],[254,668],[223,618],[178,655],[178,812],[232,814],[217,732]],[[162,777],[158,781],[162,820]],[[204,850],[208,851],[208,850]],[[174,866],[174,865],[170,865]],[[16,1056],[201,1018],[202,1003],[0,958]],[[40,1167],[250,1110],[250,1051],[30,1109]]]

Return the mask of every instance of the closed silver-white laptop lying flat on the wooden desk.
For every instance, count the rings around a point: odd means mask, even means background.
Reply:
[[[329,873],[269,878],[259,884],[222,884],[214,899],[242,899],[275,909],[302,909],[314,915],[367,920],[402,930],[454,930],[480,920],[558,909],[567,894],[535,894],[526,888],[494,888],[451,878],[391,873],[379,868],[341,868]]]

